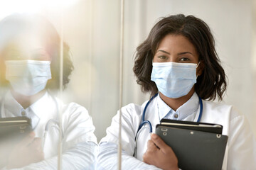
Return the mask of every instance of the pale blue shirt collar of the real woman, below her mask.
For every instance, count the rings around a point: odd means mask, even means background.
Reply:
[[[170,108],[158,95],[157,96],[157,106],[159,110],[159,118],[160,120],[164,118],[168,114],[178,114],[178,118],[176,120],[183,120],[187,118],[189,115],[196,113],[198,111],[199,99],[196,92],[188,99],[186,103],[180,106],[177,111],[174,111]]]

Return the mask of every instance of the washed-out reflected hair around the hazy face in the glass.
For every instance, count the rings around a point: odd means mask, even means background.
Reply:
[[[36,29],[33,29],[36,28]],[[46,18],[39,15],[25,13],[16,13],[7,16],[0,22],[0,51],[4,49],[7,43],[18,35],[36,31],[38,37],[43,38],[46,52],[51,57],[50,71],[52,79],[48,80],[46,89],[56,90],[60,86],[60,35]],[[9,86],[9,81],[5,79],[4,56],[0,55],[0,84]],[[63,42],[63,88],[70,81],[69,77],[73,71],[73,62],[70,60],[70,47]]]

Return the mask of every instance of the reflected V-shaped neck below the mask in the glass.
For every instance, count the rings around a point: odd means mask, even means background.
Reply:
[[[24,109],[26,109],[31,106],[31,104],[35,103],[44,94],[46,94],[46,90],[40,91],[33,96],[24,96],[22,94],[16,93],[13,89],[11,89],[11,94],[14,96],[15,100],[18,101],[18,103],[20,103]]]

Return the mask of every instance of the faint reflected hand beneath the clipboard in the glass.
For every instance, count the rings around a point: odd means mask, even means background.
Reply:
[[[31,132],[11,150],[7,169],[21,168],[28,164],[41,162],[44,159],[41,138]]]

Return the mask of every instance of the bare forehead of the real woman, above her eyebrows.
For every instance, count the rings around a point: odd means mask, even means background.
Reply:
[[[193,52],[196,54],[196,47],[183,35],[166,35],[159,43],[157,50],[167,50],[167,52]]]

